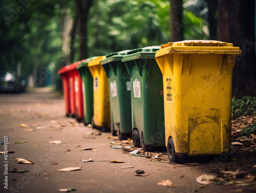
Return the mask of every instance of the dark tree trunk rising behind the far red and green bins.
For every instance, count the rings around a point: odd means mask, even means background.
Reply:
[[[74,0],[79,20],[79,60],[88,58],[87,48],[87,15],[92,5],[92,0]]]

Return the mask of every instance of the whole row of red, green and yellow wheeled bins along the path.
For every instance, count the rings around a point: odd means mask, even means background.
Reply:
[[[184,155],[231,151],[232,70],[240,48],[185,40],[114,52],[61,68],[67,116],[135,147]]]

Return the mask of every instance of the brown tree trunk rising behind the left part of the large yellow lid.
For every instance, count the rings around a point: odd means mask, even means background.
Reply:
[[[183,36],[182,0],[170,0],[170,41],[181,41]]]

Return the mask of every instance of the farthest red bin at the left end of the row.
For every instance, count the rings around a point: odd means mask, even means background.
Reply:
[[[62,67],[59,69],[58,74],[62,79],[62,87],[63,87],[63,94],[64,94],[64,101],[65,101],[65,109],[66,109],[66,116],[69,117],[71,114],[71,105],[70,105],[70,83],[69,83],[69,76],[67,70],[69,66]]]

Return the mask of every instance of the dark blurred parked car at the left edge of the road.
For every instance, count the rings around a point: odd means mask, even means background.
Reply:
[[[16,72],[0,71],[0,91],[20,92],[25,91],[26,82],[16,77]]]

